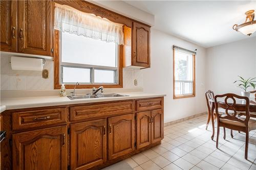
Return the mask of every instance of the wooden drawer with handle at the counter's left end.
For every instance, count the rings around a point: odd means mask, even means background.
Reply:
[[[13,130],[41,127],[67,121],[67,108],[55,108],[14,112],[12,115]]]

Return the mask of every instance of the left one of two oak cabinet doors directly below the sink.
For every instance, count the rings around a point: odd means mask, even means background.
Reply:
[[[106,119],[71,127],[71,169],[88,169],[106,161]]]

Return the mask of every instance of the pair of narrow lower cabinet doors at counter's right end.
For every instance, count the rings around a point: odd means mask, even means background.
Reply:
[[[163,110],[138,112],[136,114],[137,149],[163,139]]]

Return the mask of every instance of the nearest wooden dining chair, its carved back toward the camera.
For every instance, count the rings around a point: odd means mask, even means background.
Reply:
[[[218,102],[218,98],[225,98],[225,102]],[[228,100],[232,102],[228,102]],[[245,105],[240,105],[239,107],[236,105],[236,99],[244,100]],[[220,127],[225,127],[230,130],[237,130],[245,132],[245,159],[247,159],[248,155],[248,143],[249,143],[249,132],[251,130],[256,129],[256,120],[250,119],[249,112],[249,99],[245,96],[240,96],[237,94],[226,93],[222,95],[215,96],[215,106],[216,106],[216,114],[217,114],[217,141],[216,148],[218,148],[219,144],[219,135],[220,135]],[[219,114],[219,108],[225,109],[226,114]],[[229,112],[232,111],[232,113]],[[239,111],[245,111],[246,117],[238,117],[237,113]]]

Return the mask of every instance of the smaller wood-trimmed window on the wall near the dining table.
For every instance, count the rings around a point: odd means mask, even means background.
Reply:
[[[196,96],[195,57],[196,53],[174,46],[174,99]]]

